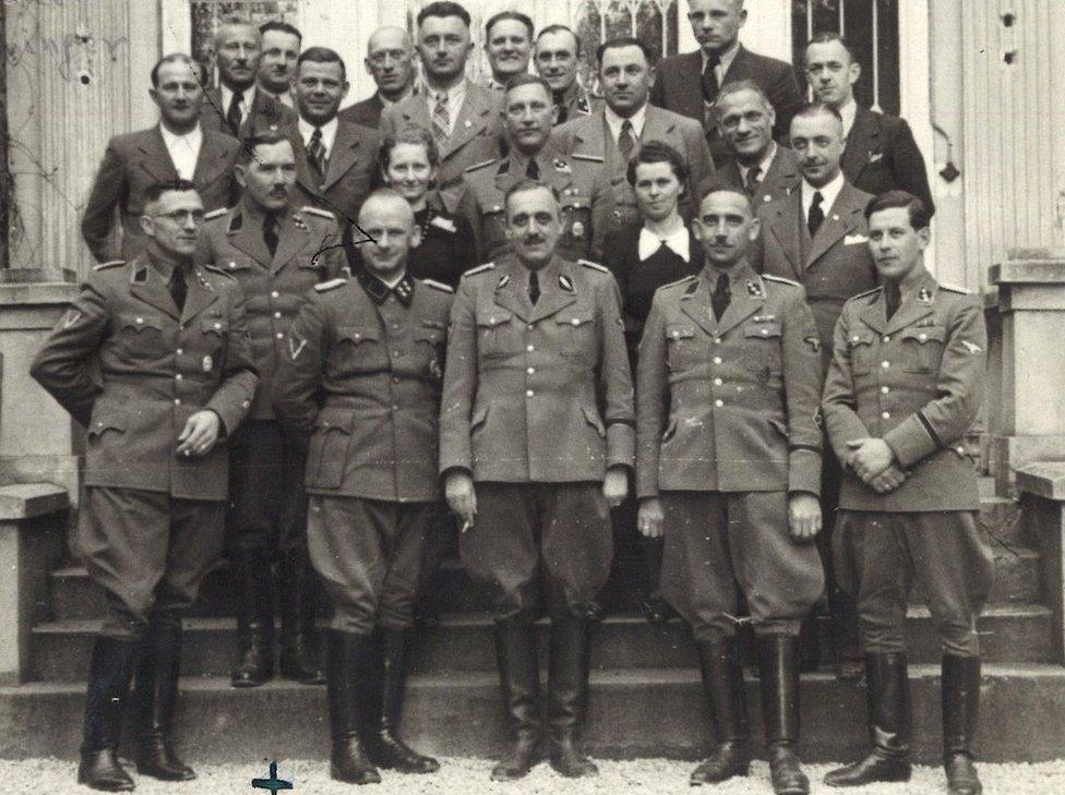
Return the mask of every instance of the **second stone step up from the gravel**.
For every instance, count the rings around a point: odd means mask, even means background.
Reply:
[[[547,654],[546,621],[538,623],[542,655]],[[31,638],[33,680],[74,682],[84,678],[93,639],[94,619],[64,621],[34,627]],[[998,605],[980,619],[981,643],[989,662],[1052,662],[1052,616],[1038,605]],[[914,662],[940,659],[940,643],[929,612],[911,606],[908,619],[910,658]],[[824,647],[827,648],[827,645]],[[236,624],[231,618],[190,618],[186,622],[182,671],[190,676],[226,676],[236,654]],[[681,622],[651,626],[634,615],[608,616],[593,646],[593,665],[609,671],[623,667],[690,667],[695,665],[692,643]],[[827,661],[826,661],[827,662]],[[423,628],[412,670],[422,673],[492,671],[495,652],[492,622],[484,614],[446,615]]]

